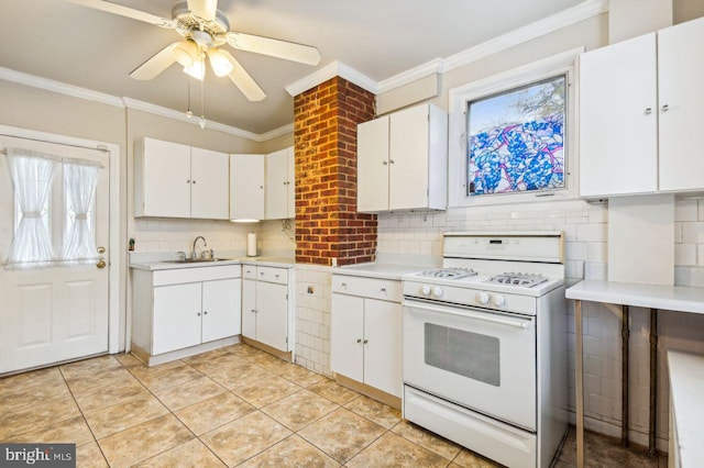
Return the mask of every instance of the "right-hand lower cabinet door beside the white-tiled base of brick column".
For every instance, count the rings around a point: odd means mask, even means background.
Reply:
[[[256,282],[256,341],[288,350],[288,298],[286,285]]]

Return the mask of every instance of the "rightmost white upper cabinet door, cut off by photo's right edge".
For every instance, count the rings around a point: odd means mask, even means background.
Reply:
[[[704,19],[658,32],[660,190],[704,188]]]

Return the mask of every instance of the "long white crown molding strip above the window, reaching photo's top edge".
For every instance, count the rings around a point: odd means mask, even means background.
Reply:
[[[441,73],[453,70],[490,55],[497,54],[518,44],[538,38],[546,34],[570,26],[590,18],[608,11],[608,0],[587,0],[560,13],[527,24],[507,34],[494,37],[459,54],[454,54],[442,62]]]

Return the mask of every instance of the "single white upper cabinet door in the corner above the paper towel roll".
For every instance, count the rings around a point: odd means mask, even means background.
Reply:
[[[265,155],[230,156],[230,219],[264,219]]]

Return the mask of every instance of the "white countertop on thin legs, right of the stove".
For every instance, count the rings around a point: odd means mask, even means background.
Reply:
[[[704,288],[636,285],[586,279],[565,290],[568,299],[638,308],[704,313]]]

